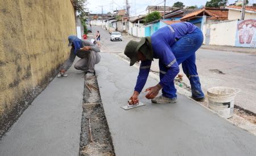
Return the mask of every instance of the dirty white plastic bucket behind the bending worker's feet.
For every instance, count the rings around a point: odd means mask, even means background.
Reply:
[[[207,90],[208,107],[222,117],[230,118],[234,112],[234,98],[241,90],[230,87],[212,87]]]

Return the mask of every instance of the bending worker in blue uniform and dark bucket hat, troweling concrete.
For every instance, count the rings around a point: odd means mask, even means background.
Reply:
[[[179,65],[187,75],[192,90],[192,98],[204,101],[199,75],[196,69],[196,50],[203,43],[203,33],[195,25],[188,22],[171,24],[158,29],[151,37],[144,37],[141,41],[129,41],[125,54],[130,58],[130,66],[141,61],[134,94],[130,104],[139,102],[138,96],[142,91],[150,72],[151,62],[159,59],[160,82],[146,89],[147,99],[152,103],[177,102],[174,78],[179,73]],[[156,97],[162,89],[162,95]]]

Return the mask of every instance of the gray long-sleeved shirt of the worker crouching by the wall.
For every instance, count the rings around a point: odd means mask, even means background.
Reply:
[[[97,45],[94,45],[93,43],[91,43],[88,40],[82,40],[82,47],[85,47],[85,46],[90,46],[94,52],[97,52],[97,53],[100,52],[100,48],[98,48]],[[75,48],[72,47],[71,50],[70,50],[69,58],[63,64],[63,68],[62,69],[68,70],[71,67],[71,65],[73,64],[76,56],[80,57],[80,58],[85,58],[88,55],[88,51],[77,50],[77,54],[75,54],[74,50],[75,50]]]

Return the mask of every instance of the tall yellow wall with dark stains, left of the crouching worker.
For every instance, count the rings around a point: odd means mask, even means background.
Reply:
[[[70,0],[0,3],[0,137],[48,85],[76,35]]]

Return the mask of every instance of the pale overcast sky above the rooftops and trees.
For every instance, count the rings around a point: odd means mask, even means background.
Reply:
[[[113,0],[113,9],[120,10],[125,5],[126,0]],[[183,2],[185,6],[204,6],[207,0],[166,0],[166,6],[172,6],[175,2]],[[228,3],[234,3],[236,0],[229,0]],[[250,3],[253,3],[256,0],[249,0]],[[89,8],[91,14],[101,14],[101,6],[103,6],[103,12],[107,13],[110,11],[110,3],[112,0],[87,0],[88,5],[86,7]],[[155,6],[160,3],[158,6],[163,6],[163,0],[129,0],[131,9],[130,15],[143,15],[145,14],[146,7],[149,5]],[[112,11],[110,11],[112,12]]]

